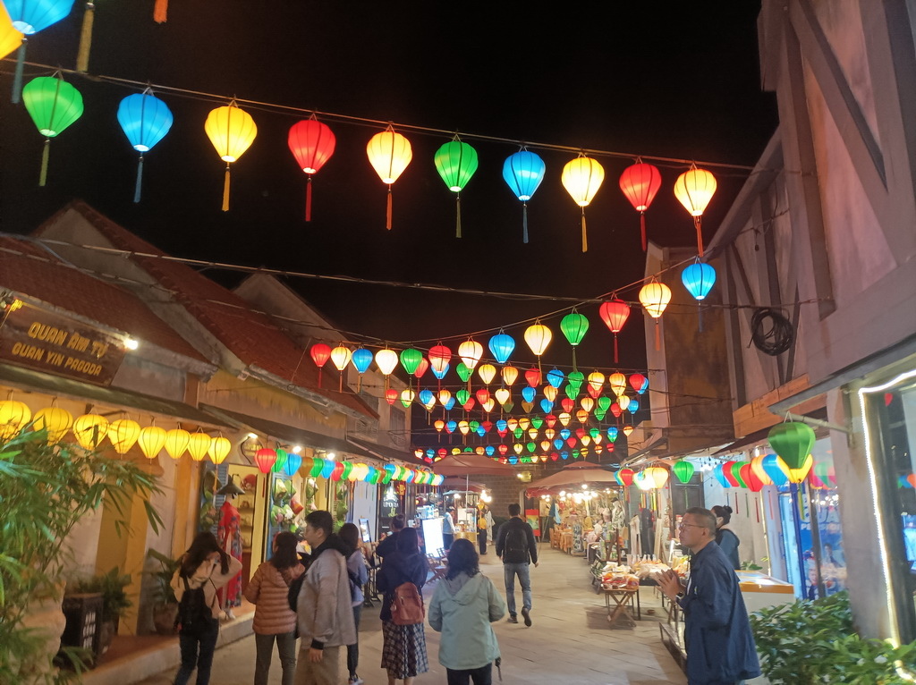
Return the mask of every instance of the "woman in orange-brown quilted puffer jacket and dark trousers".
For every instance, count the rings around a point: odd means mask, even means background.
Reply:
[[[299,538],[289,531],[274,538],[273,555],[257,567],[245,587],[245,599],[255,604],[255,685],[267,685],[274,641],[283,685],[293,685],[296,675],[296,613],[289,609],[289,585],[305,568],[296,553]]]

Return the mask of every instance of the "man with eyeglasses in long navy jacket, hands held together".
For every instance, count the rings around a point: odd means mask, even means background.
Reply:
[[[689,685],[735,685],[760,675],[757,648],[735,570],[715,544],[715,516],[694,506],[678,527],[691,551],[686,587],[674,571],[657,577],[662,593],[684,612]]]

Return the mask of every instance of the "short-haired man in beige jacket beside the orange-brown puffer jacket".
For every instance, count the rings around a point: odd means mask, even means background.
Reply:
[[[305,517],[311,565],[296,605],[301,638],[296,685],[338,685],[340,648],[356,641],[346,571],[349,549],[332,529],[330,512],[313,511]]]

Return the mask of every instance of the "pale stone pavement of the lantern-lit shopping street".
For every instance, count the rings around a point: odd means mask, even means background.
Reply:
[[[541,545],[540,567],[531,569],[533,609],[530,628],[519,615],[518,625],[505,619],[495,625],[503,655],[505,685],[683,685],[681,669],[660,642],[659,625],[663,612],[653,588],[640,589],[642,620],[635,628],[607,624],[604,598],[595,594],[588,568],[581,558],[570,557]],[[481,558],[481,570],[503,591],[502,564],[492,547]],[[433,585],[425,588],[431,596]],[[516,583],[516,598],[521,593]],[[647,614],[654,609],[656,615]],[[359,628],[359,675],[366,685],[384,685],[385,672],[379,668],[382,635],[378,604],[364,608]],[[430,672],[417,678],[422,683],[444,683],[445,669],[439,665],[439,634],[426,628]],[[343,665],[342,665],[343,666]],[[216,652],[213,685],[250,685],[254,680],[255,641],[247,636]],[[342,668],[346,682],[346,669]],[[142,685],[170,685],[174,669],[142,681]],[[193,682],[193,680],[191,680]],[[270,684],[279,685],[280,668],[276,655],[270,669]],[[498,683],[494,672],[494,683]]]

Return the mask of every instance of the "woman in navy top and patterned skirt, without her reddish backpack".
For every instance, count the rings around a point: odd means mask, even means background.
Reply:
[[[391,617],[391,603],[398,585],[412,582],[422,593],[429,565],[420,556],[419,542],[414,528],[404,528],[398,534],[397,549],[385,557],[376,575],[376,587],[385,593],[379,617],[382,619],[382,668],[387,670],[388,685],[395,685],[396,680],[411,685],[416,676],[430,669],[422,621],[414,625],[397,625]]]

